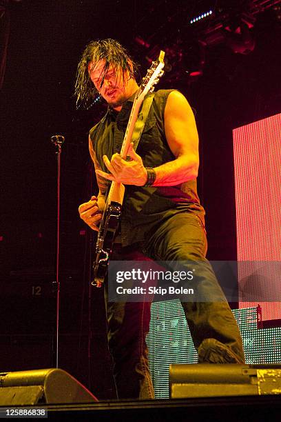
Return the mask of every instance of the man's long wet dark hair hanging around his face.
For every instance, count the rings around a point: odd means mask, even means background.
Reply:
[[[105,60],[105,66],[101,74],[101,86],[103,84],[103,78],[111,64],[116,70],[122,70],[123,77],[124,72],[127,70],[129,77],[134,78],[138,70],[138,65],[129,57],[129,54],[121,46],[121,43],[118,43],[115,39],[108,38],[91,41],[85,47],[77,67],[74,91],[77,108],[82,105],[87,107],[90,101],[94,100],[98,95],[98,91],[90,79],[88,65],[91,61],[95,65],[100,60]]]

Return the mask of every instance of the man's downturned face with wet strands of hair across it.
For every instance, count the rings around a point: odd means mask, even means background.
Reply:
[[[105,60],[89,63],[88,72],[96,90],[110,106],[121,110],[122,104],[136,92],[136,81],[129,77],[127,70],[116,69],[110,65],[104,72]]]

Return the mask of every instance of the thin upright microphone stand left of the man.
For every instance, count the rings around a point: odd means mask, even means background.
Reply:
[[[51,142],[56,146],[57,157],[57,190],[56,190],[56,281],[53,282],[56,292],[56,368],[59,368],[59,222],[60,222],[60,185],[61,185],[61,145],[65,141],[62,135],[54,135]]]

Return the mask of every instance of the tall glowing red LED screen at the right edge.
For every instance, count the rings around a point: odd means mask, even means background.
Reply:
[[[260,302],[263,320],[280,319],[280,265],[272,262],[281,261],[281,114],[234,129],[233,150],[240,308]],[[261,300],[247,301],[257,290]]]

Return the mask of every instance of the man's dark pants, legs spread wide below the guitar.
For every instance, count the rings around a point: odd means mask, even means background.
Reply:
[[[163,222],[142,248],[118,248],[112,259],[198,263],[200,274],[197,272],[196,290],[204,301],[182,302],[194,345],[198,350],[203,340],[216,339],[235,353],[242,363],[244,352],[240,331],[211,265],[205,258],[206,252],[205,228],[199,217],[182,213]],[[105,306],[118,398],[153,398],[145,343],[149,331],[150,303],[108,302],[105,283]]]

